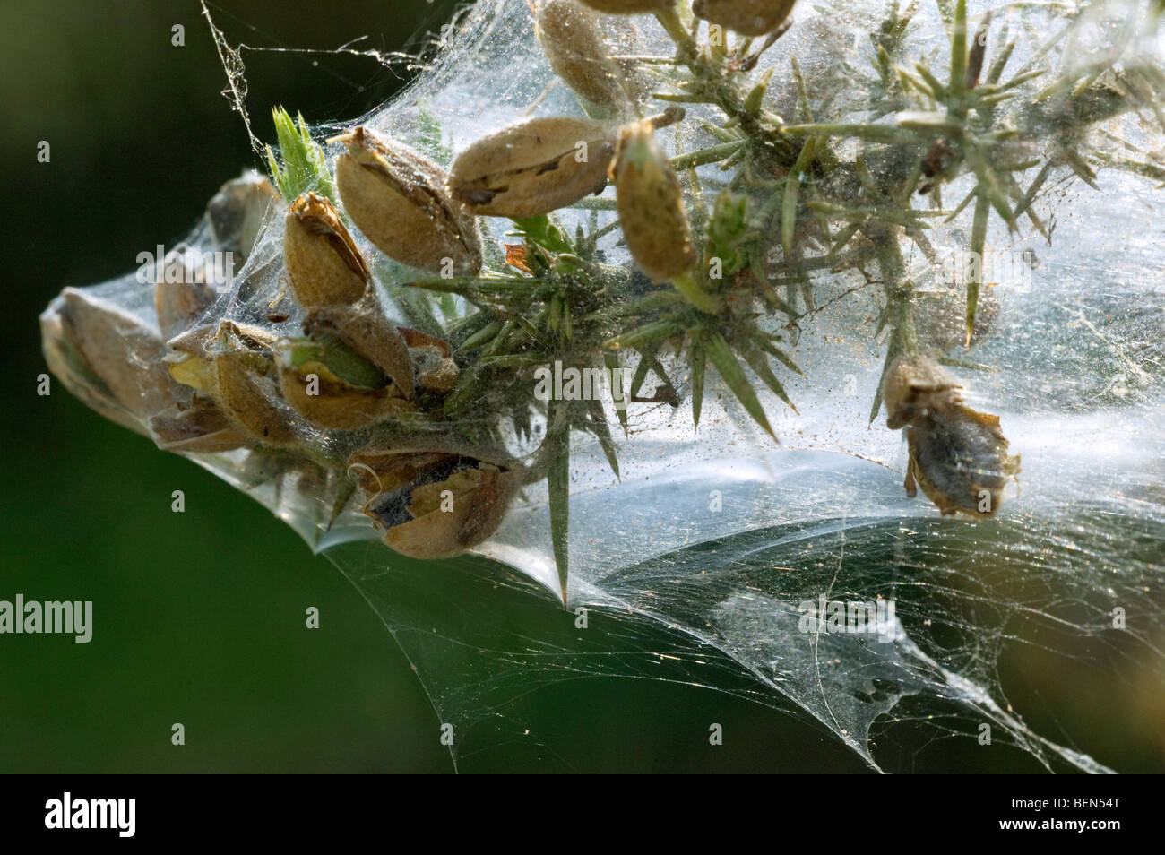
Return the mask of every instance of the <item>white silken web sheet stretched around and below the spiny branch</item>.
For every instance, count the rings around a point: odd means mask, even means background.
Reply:
[[[991,8],[996,22],[1007,19],[1017,40],[1012,62],[1037,68],[1115,49],[1113,21],[1139,5],[1093,3],[1086,12],[1026,2],[969,6],[973,16]],[[882,3],[800,3],[797,24],[771,49],[778,83],[767,105],[785,116],[797,113],[792,57],[810,80],[868,76],[870,34],[883,13]],[[912,52],[945,56],[939,12],[925,5],[916,19],[908,36]],[[610,23],[620,54],[672,52],[651,19],[634,21]],[[482,0],[454,24],[424,73],[360,123],[447,164],[473,140],[516,119],[580,113],[538,49],[524,0]],[[1069,26],[1079,28],[1071,40],[1040,48]],[[245,93],[240,54],[217,35],[230,58],[230,91]],[[1079,56],[1067,56],[1065,45]],[[1146,33],[1120,45],[1159,64],[1157,48],[1156,34]],[[854,85],[812,106],[819,118],[862,121],[869,118],[862,92]],[[715,125],[722,116],[707,105],[687,106],[687,120],[658,135],[669,150],[715,141],[700,120]],[[1102,133],[1114,147],[1124,146],[1115,142],[1122,139],[1159,153],[1158,120],[1131,114]],[[324,126],[315,136],[345,129]],[[330,163],[339,150],[325,147]],[[700,169],[708,198],[726,175],[715,164]],[[902,437],[884,428],[884,414],[870,423],[885,354],[885,338],[876,334],[883,291],[874,269],[862,276],[822,267],[814,276],[816,306],[788,330],[804,370],[785,382],[797,411],[762,395],[777,443],[711,372],[693,431],[682,368],[672,372],[683,381],[678,407],[629,407],[627,436],[616,437],[617,478],[589,434],[576,437],[570,614],[556,600],[541,482],[523,489],[502,527],[476,547],[492,561],[418,565],[375,542],[358,508],[329,529],[338,485],[326,472],[285,468],[247,451],[193,457],[270,507],[361,591],[414,663],[440,721],[452,722],[457,734],[483,734],[454,742],[454,759],[467,759],[483,742],[524,737],[536,743],[530,750],[553,756],[552,741],[529,736],[523,699],[551,684],[619,677],[706,686],[807,716],[873,768],[881,765],[871,749],[880,727],[909,721],[925,722],[934,739],[982,740],[987,725],[995,742],[1014,744],[1047,769],[1107,771],[1067,744],[1079,734],[1035,733],[1000,678],[1001,657],[1023,645],[1111,662],[1145,692],[1159,692],[1165,677],[1165,220],[1159,191],[1143,178],[1101,170],[1097,184],[1088,188],[1066,167],[1051,174],[1033,204],[1050,241],[1031,221],[1009,234],[993,220],[988,245],[1024,267],[990,283],[983,339],[970,351],[948,348],[963,363],[969,402],[1000,415],[1022,458],[1019,489],[1011,488],[990,521],[941,518],[922,496],[908,499]],[[944,186],[948,209],[972,186],[972,176]],[[283,212],[282,205],[268,211],[254,250],[210,317],[257,323],[282,335],[298,330],[302,312],[280,299]],[[615,220],[601,206],[557,215],[570,232]],[[487,256],[496,261],[509,222],[482,218],[481,228]],[[970,228],[968,211],[935,219],[927,239],[939,256],[955,254],[967,248]],[[410,280],[356,240],[376,260],[381,285]],[[214,248],[205,228],[188,242]],[[908,273],[926,284],[937,276],[934,259],[911,247],[903,243]],[[617,231],[600,248],[608,261],[629,263]],[[135,276],[89,291],[156,325],[148,317],[153,288]],[[416,323],[416,306],[396,294],[386,290],[383,304],[394,306],[394,319]],[[436,306],[433,297],[430,309]],[[466,305],[444,309],[456,318]],[[940,324],[944,318],[940,312]],[[493,417],[483,407],[480,418]],[[510,452],[530,453],[542,430],[536,422],[532,438],[510,437]],[[847,614],[841,623],[818,626],[806,603],[869,603],[877,620],[847,624]],[[843,626],[849,631],[838,631]]]

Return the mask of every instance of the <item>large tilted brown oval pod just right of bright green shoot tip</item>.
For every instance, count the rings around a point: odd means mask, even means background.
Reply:
[[[438,274],[472,276],[481,269],[478,226],[449,198],[445,170],[362,127],[337,139],[348,149],[336,161],[340,198],[377,249]]]

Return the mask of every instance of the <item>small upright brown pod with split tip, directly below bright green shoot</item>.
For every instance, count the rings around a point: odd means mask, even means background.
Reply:
[[[288,209],[283,260],[296,299],[308,309],[355,303],[372,282],[339,213],[316,193],[304,193]]]

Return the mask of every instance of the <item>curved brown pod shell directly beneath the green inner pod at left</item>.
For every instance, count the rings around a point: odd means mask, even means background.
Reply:
[[[284,367],[280,389],[296,412],[329,430],[358,430],[412,409],[395,384],[376,389],[354,386],[323,362]]]

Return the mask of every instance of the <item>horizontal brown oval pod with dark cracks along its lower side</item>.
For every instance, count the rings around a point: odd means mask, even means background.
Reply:
[[[450,190],[478,214],[537,217],[601,193],[614,155],[614,135],[603,122],[530,119],[458,155]]]

